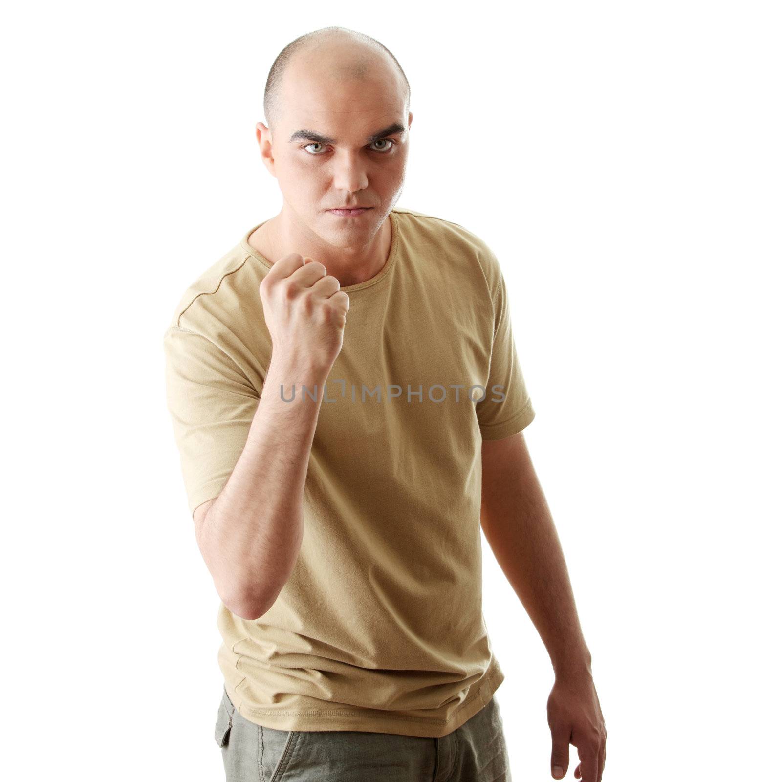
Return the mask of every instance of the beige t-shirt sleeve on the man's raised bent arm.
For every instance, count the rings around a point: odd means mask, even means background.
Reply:
[[[228,482],[260,395],[228,353],[198,332],[169,328],[163,350],[167,407],[192,514]]]

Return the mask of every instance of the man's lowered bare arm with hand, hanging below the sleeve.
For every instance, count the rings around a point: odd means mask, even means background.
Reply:
[[[554,520],[522,432],[483,441],[481,527],[554,666],[547,704],[552,776],[565,776],[569,744],[575,744],[580,761],[576,777],[600,782],[606,730],[592,680],[592,658]]]

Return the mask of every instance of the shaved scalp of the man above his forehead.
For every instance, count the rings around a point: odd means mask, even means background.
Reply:
[[[271,66],[264,91],[264,114],[271,134],[280,124],[286,96],[295,94],[299,75],[316,72],[329,81],[366,81],[390,74],[405,95],[404,113],[410,109],[410,83],[389,50],[364,33],[346,27],[322,27],[300,35],[280,52]]]

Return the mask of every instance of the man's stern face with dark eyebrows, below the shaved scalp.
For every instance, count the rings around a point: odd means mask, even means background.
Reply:
[[[404,185],[412,114],[404,114],[402,77],[387,67],[356,79],[292,64],[283,95],[271,145],[262,124],[257,135],[285,209],[328,244],[364,245]],[[357,217],[329,211],[346,204],[371,208]]]

